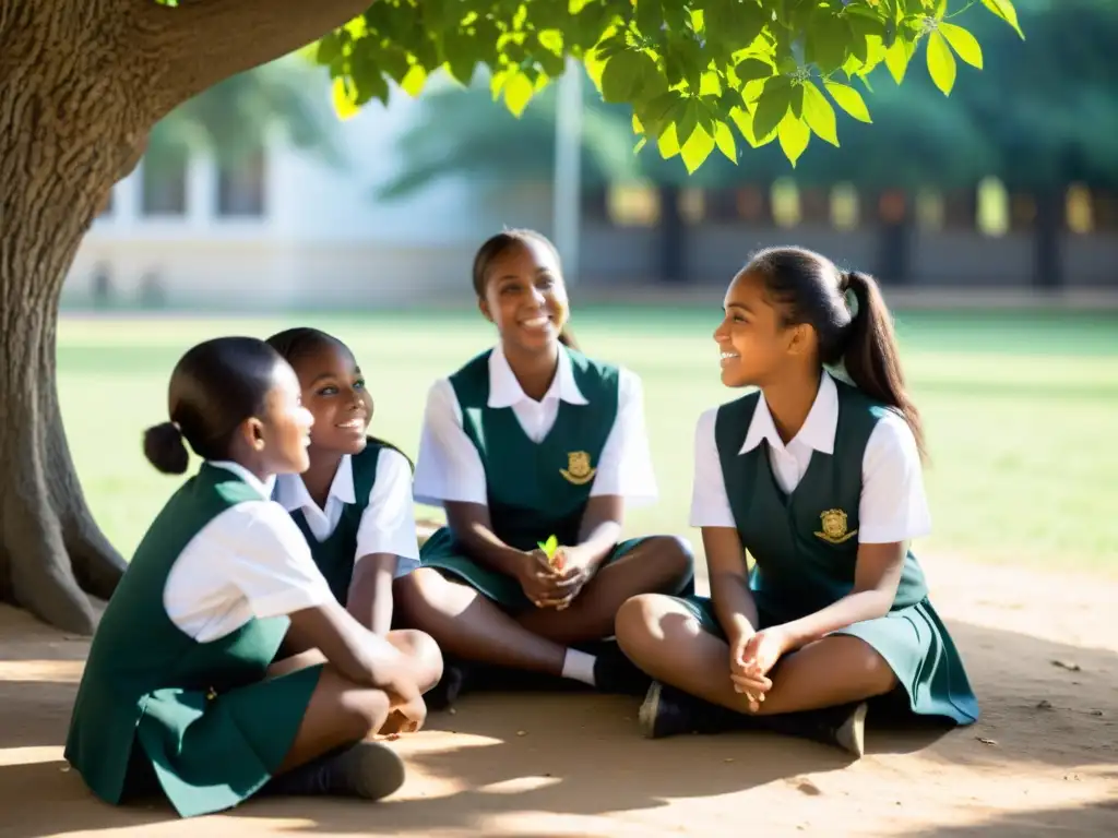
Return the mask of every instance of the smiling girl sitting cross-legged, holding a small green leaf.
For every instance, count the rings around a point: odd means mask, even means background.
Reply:
[[[415,494],[447,526],[424,544],[415,589],[451,580],[446,621],[408,610],[457,659],[644,692],[613,636],[636,593],[686,592],[692,558],[671,536],[622,541],[625,508],[656,498],[639,379],[594,361],[565,331],[559,257],[530,230],[499,234],[474,259],[482,315],[500,341],[432,387]],[[539,544],[555,536],[549,556]],[[581,647],[581,648],[579,648]]]

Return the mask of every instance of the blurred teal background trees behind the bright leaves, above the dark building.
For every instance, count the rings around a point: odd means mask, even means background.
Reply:
[[[1029,48],[989,15],[974,32],[986,70],[945,97],[926,73],[902,86],[879,67],[868,78],[874,124],[844,128],[841,147],[824,145],[802,158],[796,181],[804,185],[852,182],[860,188],[967,188],[997,177],[1021,189],[1060,188],[1082,180],[1118,185],[1118,7],[1106,0],[1020,0]],[[1071,84],[1071,80],[1074,80]],[[443,84],[424,95],[418,117],[399,137],[404,164],[385,183],[382,197],[423,189],[448,174],[498,179],[547,178],[555,156],[556,108],[550,89],[527,108],[520,124],[490,98],[477,79],[470,91]],[[1006,95],[1007,91],[1014,95]],[[582,178],[587,185],[629,181],[686,183],[704,188],[768,182],[789,173],[781,150],[752,151],[733,165],[714,155],[694,174],[675,159],[632,145],[631,109],[609,105],[587,85]]]

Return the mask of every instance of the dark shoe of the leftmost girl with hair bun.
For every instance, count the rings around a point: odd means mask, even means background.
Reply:
[[[380,742],[358,742],[273,778],[271,794],[352,797],[380,800],[404,784],[404,760]]]

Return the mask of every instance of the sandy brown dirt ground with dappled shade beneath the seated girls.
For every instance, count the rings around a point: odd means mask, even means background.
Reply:
[[[868,753],[741,733],[648,742],[636,702],[483,695],[397,745],[378,804],[268,800],[177,820],[97,802],[61,759],[86,641],[0,608],[0,836],[1118,836],[1118,583],[928,562],[983,718]]]

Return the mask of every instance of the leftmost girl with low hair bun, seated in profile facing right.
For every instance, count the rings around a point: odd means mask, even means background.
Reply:
[[[162,793],[181,817],[263,791],[391,793],[404,763],[363,740],[418,730],[438,675],[338,604],[269,499],[276,475],[307,467],[312,417],[294,372],[254,337],[206,341],[176,365],[169,411],[144,434],[148,459],[183,474],[186,442],[203,461],[105,609],[66,759],[102,800]],[[276,660],[281,644],[315,651]],[[434,647],[418,632],[408,645]]]

